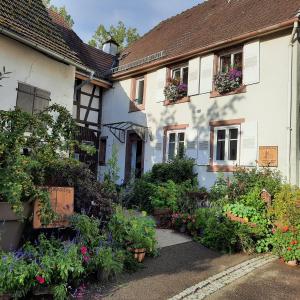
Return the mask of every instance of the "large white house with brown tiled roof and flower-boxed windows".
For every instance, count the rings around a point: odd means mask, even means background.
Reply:
[[[208,0],[125,49],[103,94],[101,134],[106,162],[118,148],[120,183],[185,154],[201,186],[237,166],[269,166],[299,184],[299,8]]]

